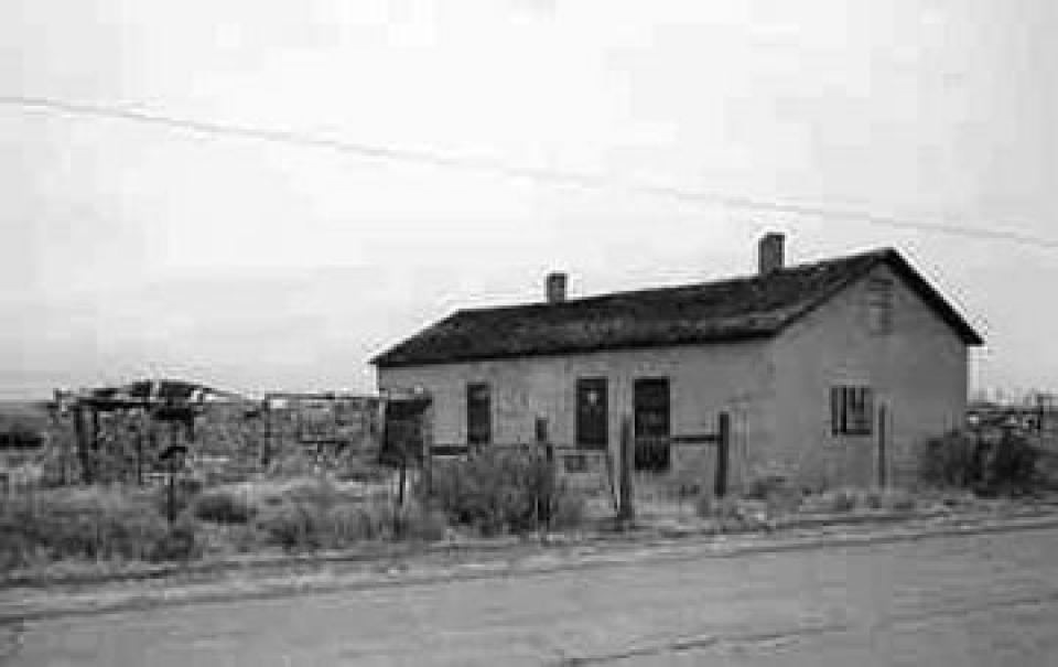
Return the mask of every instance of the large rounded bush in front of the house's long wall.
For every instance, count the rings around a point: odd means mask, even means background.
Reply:
[[[469,460],[436,465],[432,492],[453,524],[483,535],[536,530],[549,515],[561,515],[568,527],[582,515],[570,498],[573,492],[552,480],[538,449],[485,449]]]

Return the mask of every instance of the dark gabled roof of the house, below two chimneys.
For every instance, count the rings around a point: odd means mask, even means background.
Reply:
[[[769,337],[878,265],[889,266],[967,345],[981,336],[893,249],[765,276],[615,292],[562,303],[460,310],[379,354],[379,367]]]

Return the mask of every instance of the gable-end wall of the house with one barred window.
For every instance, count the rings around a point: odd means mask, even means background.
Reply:
[[[878,475],[877,407],[887,411],[888,478],[914,476],[917,447],[963,423],[967,346],[888,267],[894,280],[893,330],[867,326],[867,279],[838,294],[773,344],[776,368],[771,449],[760,463],[820,485],[870,485]],[[832,433],[830,389],[867,386],[875,396],[871,435]]]

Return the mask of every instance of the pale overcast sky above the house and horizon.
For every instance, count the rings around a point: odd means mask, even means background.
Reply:
[[[0,97],[611,186],[0,104],[0,397],[182,377],[374,387],[457,308],[896,247],[987,341],[975,388],[1058,389],[1058,248],[627,184],[1058,239],[1050,0],[7,0]]]

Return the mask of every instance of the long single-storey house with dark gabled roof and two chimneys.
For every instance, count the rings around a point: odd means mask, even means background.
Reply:
[[[379,354],[379,388],[425,390],[441,443],[531,441],[546,418],[555,443],[616,455],[627,418],[637,467],[659,471],[724,411],[730,484],[868,485],[907,480],[918,444],[962,426],[982,343],[896,250],[787,267],[778,234],[751,277],[568,299],[552,273],[544,291]]]

